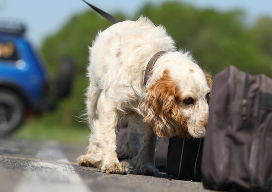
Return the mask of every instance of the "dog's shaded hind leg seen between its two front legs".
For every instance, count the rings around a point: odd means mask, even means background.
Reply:
[[[118,158],[131,159],[137,156],[140,149],[140,134],[137,128],[140,126],[142,118],[138,115],[130,115],[128,117],[128,133],[120,150],[117,151]]]

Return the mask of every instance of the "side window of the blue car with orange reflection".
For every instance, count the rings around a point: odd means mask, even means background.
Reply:
[[[16,51],[16,47],[11,42],[0,42],[0,61],[17,61],[18,54]]]

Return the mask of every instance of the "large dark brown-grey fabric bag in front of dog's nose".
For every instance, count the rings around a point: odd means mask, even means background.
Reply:
[[[272,79],[230,66],[214,79],[202,182],[222,191],[272,191]]]

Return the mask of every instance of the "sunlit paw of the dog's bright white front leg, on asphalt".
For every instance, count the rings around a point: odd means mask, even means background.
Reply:
[[[106,174],[110,174],[110,173],[114,173],[114,174],[128,174],[129,173],[129,169],[127,167],[125,167],[125,163],[121,162],[121,163],[107,163],[104,166],[101,167],[101,172],[106,173]]]

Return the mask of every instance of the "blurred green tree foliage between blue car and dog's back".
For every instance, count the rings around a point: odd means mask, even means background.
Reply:
[[[119,18],[124,18],[118,14]],[[97,31],[104,30],[111,23],[93,11],[73,16],[55,35],[48,37],[42,45],[42,52],[54,75],[59,60],[70,55],[77,64],[77,75],[85,75],[88,64],[88,47]]]

